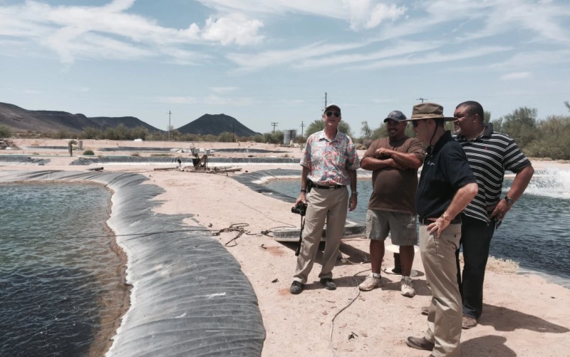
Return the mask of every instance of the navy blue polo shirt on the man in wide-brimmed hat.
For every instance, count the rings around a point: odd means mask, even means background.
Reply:
[[[416,193],[418,216],[438,218],[459,188],[477,182],[461,145],[447,130],[433,147],[427,148]]]

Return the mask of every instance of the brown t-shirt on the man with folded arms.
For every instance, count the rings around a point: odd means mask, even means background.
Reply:
[[[365,158],[376,158],[376,149],[399,151],[400,153],[413,153],[424,162],[425,154],[422,143],[416,138],[404,137],[398,141],[382,138],[374,141],[364,154]],[[384,169],[372,171],[373,192],[370,196],[368,208],[370,210],[393,211],[407,214],[416,214],[416,191],[418,189],[417,169]]]

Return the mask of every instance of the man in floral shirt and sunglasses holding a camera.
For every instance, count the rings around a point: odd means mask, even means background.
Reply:
[[[323,131],[310,135],[301,159],[301,193],[296,203],[307,203],[307,215],[303,230],[303,246],[297,259],[297,267],[291,284],[291,294],[299,294],[307,283],[313,267],[325,220],[326,243],[320,283],[328,290],[335,290],[332,268],[335,267],[340,239],[347,219],[347,207],[356,208],[356,169],[360,166],[351,138],[337,130],[341,121],[340,107],[331,104],[323,111]],[[308,180],[312,190],[307,194]],[[351,186],[348,198],[347,186]]]

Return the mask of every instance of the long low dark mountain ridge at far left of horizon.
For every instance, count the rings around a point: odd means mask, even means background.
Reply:
[[[0,124],[7,125],[14,131],[34,133],[53,133],[59,130],[78,133],[87,127],[104,130],[120,124],[129,129],[144,126],[149,131],[161,131],[135,117],[88,118],[83,114],[65,111],[26,110],[8,103],[0,103]]]

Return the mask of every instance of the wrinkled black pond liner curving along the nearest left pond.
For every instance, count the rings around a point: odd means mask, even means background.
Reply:
[[[186,226],[186,216],[154,212],[161,202],[153,199],[164,190],[146,180],[127,173],[0,172],[0,182],[91,182],[114,191],[107,223],[121,235],[116,240],[127,253],[132,290],[107,357],[260,356],[263,320],[239,263],[205,228]],[[193,231],[166,232],[175,230]],[[132,235],[157,231],[164,233]]]

